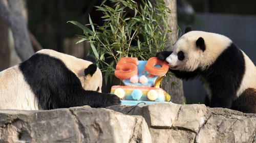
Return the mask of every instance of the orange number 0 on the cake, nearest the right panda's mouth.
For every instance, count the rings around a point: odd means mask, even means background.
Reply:
[[[161,65],[161,68],[156,68],[155,65]],[[152,75],[165,75],[169,69],[168,64],[164,61],[160,61],[157,57],[152,57],[148,59],[146,63],[146,71]]]

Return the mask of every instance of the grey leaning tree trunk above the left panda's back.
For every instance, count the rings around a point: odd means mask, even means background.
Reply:
[[[20,2],[16,0],[0,1],[0,17],[11,28],[17,54],[26,61],[34,54],[29,38],[26,21],[22,15]]]

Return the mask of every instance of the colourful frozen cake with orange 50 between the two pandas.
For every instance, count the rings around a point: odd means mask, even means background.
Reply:
[[[124,86],[113,86],[111,94],[117,95],[123,105],[136,105],[142,101],[146,104],[168,102],[169,94],[160,88],[168,69],[168,64],[156,57],[148,61],[121,58],[116,66],[115,76],[122,80]]]

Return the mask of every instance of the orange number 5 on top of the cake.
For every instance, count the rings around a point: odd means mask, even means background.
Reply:
[[[116,65],[115,76],[119,79],[129,79],[138,75],[138,58],[121,58]]]

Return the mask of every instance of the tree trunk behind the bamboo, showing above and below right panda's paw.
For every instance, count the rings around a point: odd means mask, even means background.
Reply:
[[[168,21],[168,24],[170,25],[172,29],[172,35],[169,43],[167,43],[166,46],[169,46],[167,50],[173,51],[173,43],[175,43],[178,40],[177,37],[177,32],[178,32],[178,27],[177,27],[177,3],[176,0],[163,0],[165,2],[165,6],[169,8],[172,11],[172,16],[170,17],[170,20]],[[163,89],[170,94],[170,101],[177,103],[177,104],[184,104],[185,103],[185,97],[184,97],[184,91],[183,91],[183,84],[182,80],[176,78],[175,76],[172,76],[172,78],[168,79],[169,77],[165,77],[163,79],[163,83],[166,83],[167,80],[169,80],[168,84],[166,84]],[[178,87],[175,86],[173,89],[170,86],[171,82],[177,82],[179,85]]]

